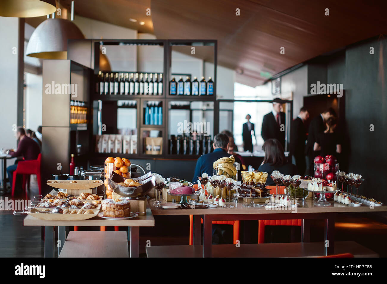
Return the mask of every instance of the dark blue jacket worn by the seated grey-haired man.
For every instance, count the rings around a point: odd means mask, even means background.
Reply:
[[[222,148],[216,148],[213,152],[200,156],[196,162],[195,174],[194,174],[194,178],[192,179],[192,182],[197,182],[197,177],[200,177],[202,173],[207,173],[209,177],[211,177],[212,170],[213,170],[212,163],[214,163],[216,160],[220,158],[229,157],[229,156],[231,155],[226,151],[224,151]],[[235,157],[235,162],[239,163],[239,168],[240,168],[240,170],[238,171],[238,180],[242,180],[242,176],[241,176],[242,163],[238,157]]]

